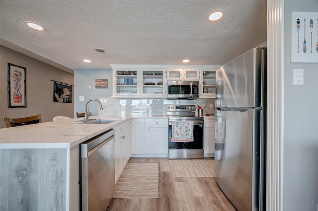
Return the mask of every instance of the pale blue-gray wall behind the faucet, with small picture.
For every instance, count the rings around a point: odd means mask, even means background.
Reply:
[[[83,113],[85,111],[87,100],[112,96],[112,77],[112,69],[74,69],[74,117],[76,117],[76,112]],[[95,79],[108,79],[108,88],[95,88]],[[92,89],[86,90],[86,86],[91,86]],[[84,101],[79,101],[79,96],[84,96]],[[90,102],[88,106],[91,115],[98,114],[97,102]]]

